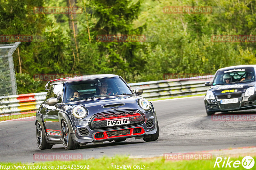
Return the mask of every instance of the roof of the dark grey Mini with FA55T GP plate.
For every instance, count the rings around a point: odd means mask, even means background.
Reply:
[[[120,76],[116,74],[92,74],[92,75],[82,75],[82,76],[67,77],[62,79],[55,79],[49,82],[52,82],[51,84],[58,84],[58,83],[69,83],[69,82],[75,82],[75,81],[93,80],[93,79],[110,78],[110,77],[120,77]]]

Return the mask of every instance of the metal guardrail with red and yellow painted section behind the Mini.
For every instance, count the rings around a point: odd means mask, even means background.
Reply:
[[[211,81],[213,75],[198,76],[181,79],[169,79],[160,81],[147,81],[129,83],[132,89],[143,88],[141,95],[147,99],[166,98],[172,96],[186,96],[205,94],[209,87],[204,83]],[[35,113],[40,104],[45,100],[47,92],[30,93],[12,96],[0,96],[0,117]]]

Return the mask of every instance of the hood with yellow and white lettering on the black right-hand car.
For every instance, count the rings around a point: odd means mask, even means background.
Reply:
[[[226,85],[212,86],[209,90],[215,95],[228,94],[228,93],[243,93],[249,87],[255,86],[255,81],[248,83],[234,83]]]

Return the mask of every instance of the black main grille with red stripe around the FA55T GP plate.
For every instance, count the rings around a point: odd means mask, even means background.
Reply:
[[[129,124],[107,126],[107,121],[119,118],[128,118]],[[89,123],[92,130],[104,130],[104,129],[114,129],[120,127],[128,127],[133,125],[140,125],[144,122],[144,117],[137,110],[127,110],[127,111],[116,111],[111,113],[98,114],[93,117]]]

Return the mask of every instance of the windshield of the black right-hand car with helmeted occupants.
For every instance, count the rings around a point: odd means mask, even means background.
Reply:
[[[212,85],[255,81],[253,67],[218,71]]]

